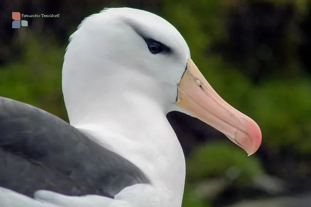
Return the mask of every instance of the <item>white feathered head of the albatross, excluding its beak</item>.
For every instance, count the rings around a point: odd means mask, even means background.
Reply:
[[[66,104],[86,95],[76,94],[81,91],[77,87],[97,81],[105,82],[113,96],[122,96],[126,90],[154,96],[163,100],[163,110],[176,101],[190,52],[183,37],[163,18],[137,9],[105,9],[87,17],[70,39],[63,67]],[[77,62],[87,67],[77,67]],[[88,89],[87,93],[94,87]]]

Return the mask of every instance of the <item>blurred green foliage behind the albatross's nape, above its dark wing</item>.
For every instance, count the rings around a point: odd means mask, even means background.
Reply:
[[[0,69],[1,96],[35,105],[67,119],[61,91],[65,47],[28,34],[22,60]]]

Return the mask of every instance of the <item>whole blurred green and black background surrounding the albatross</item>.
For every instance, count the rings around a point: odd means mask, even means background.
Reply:
[[[262,131],[250,157],[212,129],[181,140],[183,207],[310,207],[309,0],[1,0],[0,96],[68,120],[61,68],[69,35],[84,17],[120,6],[170,21],[214,89]],[[28,27],[11,29],[11,12],[60,17],[23,18]]]

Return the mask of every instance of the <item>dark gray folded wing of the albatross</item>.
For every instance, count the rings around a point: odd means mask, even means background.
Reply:
[[[2,97],[0,169],[2,196],[5,190],[29,197],[36,190],[51,190],[113,198],[127,186],[150,183],[133,163],[99,146],[66,121]]]

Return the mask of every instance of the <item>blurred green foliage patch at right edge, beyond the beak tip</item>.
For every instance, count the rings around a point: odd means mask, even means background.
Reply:
[[[272,80],[249,94],[263,141],[271,148],[289,146],[311,153],[311,81]],[[309,98],[308,98],[309,97]]]

